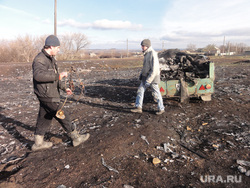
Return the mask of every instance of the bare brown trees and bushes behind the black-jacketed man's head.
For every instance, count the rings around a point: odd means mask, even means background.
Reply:
[[[34,57],[44,46],[48,35],[32,37],[19,36],[15,40],[0,42],[0,62],[32,62]],[[90,44],[88,38],[82,33],[70,33],[58,36],[61,48],[58,60],[81,59],[83,50]]]

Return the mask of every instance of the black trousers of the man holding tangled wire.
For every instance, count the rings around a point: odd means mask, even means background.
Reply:
[[[74,130],[74,126],[72,125],[69,114],[65,108],[62,109],[64,111],[65,118],[59,119],[56,117],[56,112],[61,108],[61,105],[61,103],[57,102],[40,101],[35,135],[44,135],[46,132],[48,132],[53,118],[55,118],[61,124],[67,133],[70,133]]]

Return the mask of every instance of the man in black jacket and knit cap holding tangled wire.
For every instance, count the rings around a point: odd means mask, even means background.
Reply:
[[[68,95],[72,94],[69,88],[65,88],[61,79],[67,77],[67,72],[58,72],[55,55],[60,51],[60,41],[54,35],[50,35],[45,40],[45,46],[42,51],[35,57],[33,69],[33,85],[34,93],[39,102],[39,114],[36,123],[35,144],[32,150],[47,149],[52,147],[52,142],[44,141],[44,135],[49,129],[52,119],[55,118],[64,130],[68,133],[73,141],[73,146],[77,146],[85,142],[89,138],[89,134],[80,135],[75,126],[72,125],[68,112],[63,110],[63,117],[57,116],[57,112],[61,109],[60,92],[63,90]]]

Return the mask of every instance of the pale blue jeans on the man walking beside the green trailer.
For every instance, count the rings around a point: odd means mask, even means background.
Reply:
[[[153,89],[152,94],[158,104],[158,110],[164,110],[165,107],[163,105],[163,100],[162,100],[162,96],[161,96],[161,92],[160,92],[158,84],[152,83],[150,84],[150,87]],[[136,96],[136,101],[135,101],[136,107],[142,108],[144,93],[146,89],[147,89],[147,86],[145,86],[145,83],[141,82],[137,90],[137,96]]]

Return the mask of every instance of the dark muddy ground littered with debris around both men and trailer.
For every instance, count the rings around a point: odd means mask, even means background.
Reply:
[[[216,59],[212,101],[165,98],[160,116],[150,90],[143,113],[130,112],[141,59],[59,63],[60,71],[71,66],[85,92],[64,108],[91,137],[72,147],[53,121],[46,139],[54,146],[32,152],[39,104],[31,64],[0,64],[0,187],[249,187],[249,62]]]

